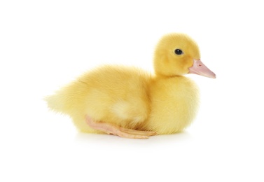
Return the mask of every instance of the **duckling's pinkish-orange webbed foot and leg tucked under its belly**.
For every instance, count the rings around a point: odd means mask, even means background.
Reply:
[[[86,123],[95,130],[129,139],[148,139],[149,136],[155,135],[155,132],[132,130],[109,123],[97,123],[88,116],[86,117]]]

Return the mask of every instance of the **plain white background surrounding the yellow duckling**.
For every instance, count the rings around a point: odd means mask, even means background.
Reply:
[[[0,181],[264,181],[261,1],[1,1]],[[100,64],[152,69],[184,32],[216,73],[190,75],[200,112],[182,134],[78,133],[43,97]]]

